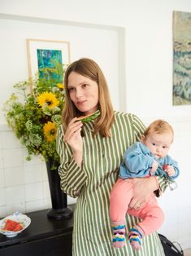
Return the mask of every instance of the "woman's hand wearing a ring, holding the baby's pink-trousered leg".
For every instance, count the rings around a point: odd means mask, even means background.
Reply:
[[[150,200],[154,190],[158,189],[158,181],[155,176],[149,178],[134,178],[133,197],[129,207],[134,209],[142,208]]]

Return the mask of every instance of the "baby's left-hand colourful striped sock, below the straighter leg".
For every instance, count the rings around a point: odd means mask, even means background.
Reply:
[[[115,248],[120,248],[125,245],[125,225],[119,224],[119,223],[112,223],[112,232],[113,232],[113,238],[112,238],[112,244]]]

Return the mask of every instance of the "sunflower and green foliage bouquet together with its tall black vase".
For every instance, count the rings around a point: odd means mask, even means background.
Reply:
[[[60,188],[56,152],[56,134],[62,122],[65,99],[64,71],[60,65],[41,68],[36,77],[15,84],[16,92],[3,108],[8,126],[28,151],[27,160],[40,155],[46,161],[52,201],[47,215],[58,220],[72,216],[72,210],[67,207],[67,195]],[[33,91],[28,92],[29,88]]]

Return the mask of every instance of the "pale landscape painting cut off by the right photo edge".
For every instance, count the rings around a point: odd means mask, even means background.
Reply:
[[[191,13],[173,12],[173,105],[191,104]]]

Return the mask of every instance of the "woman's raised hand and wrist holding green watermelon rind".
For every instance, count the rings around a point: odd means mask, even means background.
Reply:
[[[81,166],[83,155],[83,140],[80,135],[82,126],[82,122],[77,121],[77,118],[75,117],[69,122],[64,135],[64,142],[72,148],[73,157],[79,166]]]

